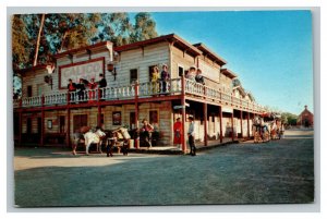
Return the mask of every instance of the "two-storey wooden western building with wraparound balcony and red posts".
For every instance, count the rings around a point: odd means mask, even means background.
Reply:
[[[161,146],[172,145],[173,122],[194,115],[196,139],[208,144],[223,137],[250,137],[252,118],[263,112],[251,94],[234,88],[237,74],[204,44],[185,41],[175,34],[114,47],[110,41],[53,56],[55,63],[20,70],[22,98],[14,101],[15,144],[70,145],[83,125],[140,127],[147,119],[160,133]],[[167,64],[170,80],[150,82],[155,65]],[[202,69],[205,85],[185,78],[190,66]],[[81,97],[68,92],[68,81],[95,81],[104,74],[108,86],[87,89]],[[154,87],[157,86],[157,87]],[[159,88],[158,88],[159,87]],[[185,136],[185,135],[184,135]],[[140,147],[137,141],[135,147]],[[186,151],[185,141],[182,149]]]

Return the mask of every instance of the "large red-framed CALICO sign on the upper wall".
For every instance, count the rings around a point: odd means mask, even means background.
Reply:
[[[104,63],[105,58],[100,58],[59,66],[60,88],[66,88],[70,78],[74,83],[78,83],[80,78],[90,81],[92,77],[98,82],[99,74],[105,74]]]

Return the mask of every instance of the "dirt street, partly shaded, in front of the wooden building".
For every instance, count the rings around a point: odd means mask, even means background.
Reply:
[[[313,131],[195,157],[16,148],[14,178],[19,207],[312,203]]]

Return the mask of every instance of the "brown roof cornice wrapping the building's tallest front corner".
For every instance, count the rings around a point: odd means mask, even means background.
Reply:
[[[126,51],[126,50],[131,50],[131,49],[142,48],[142,47],[145,47],[148,45],[158,44],[161,41],[173,42],[173,46],[181,48],[183,50],[187,50],[187,52],[192,53],[193,56],[202,54],[201,50],[198,50],[196,47],[189,44],[187,41],[185,41],[184,39],[182,39],[180,36],[175,35],[175,34],[164,35],[164,36],[159,36],[156,38],[146,39],[143,41],[136,41],[133,44],[114,47],[113,50],[119,51],[119,52]]]

